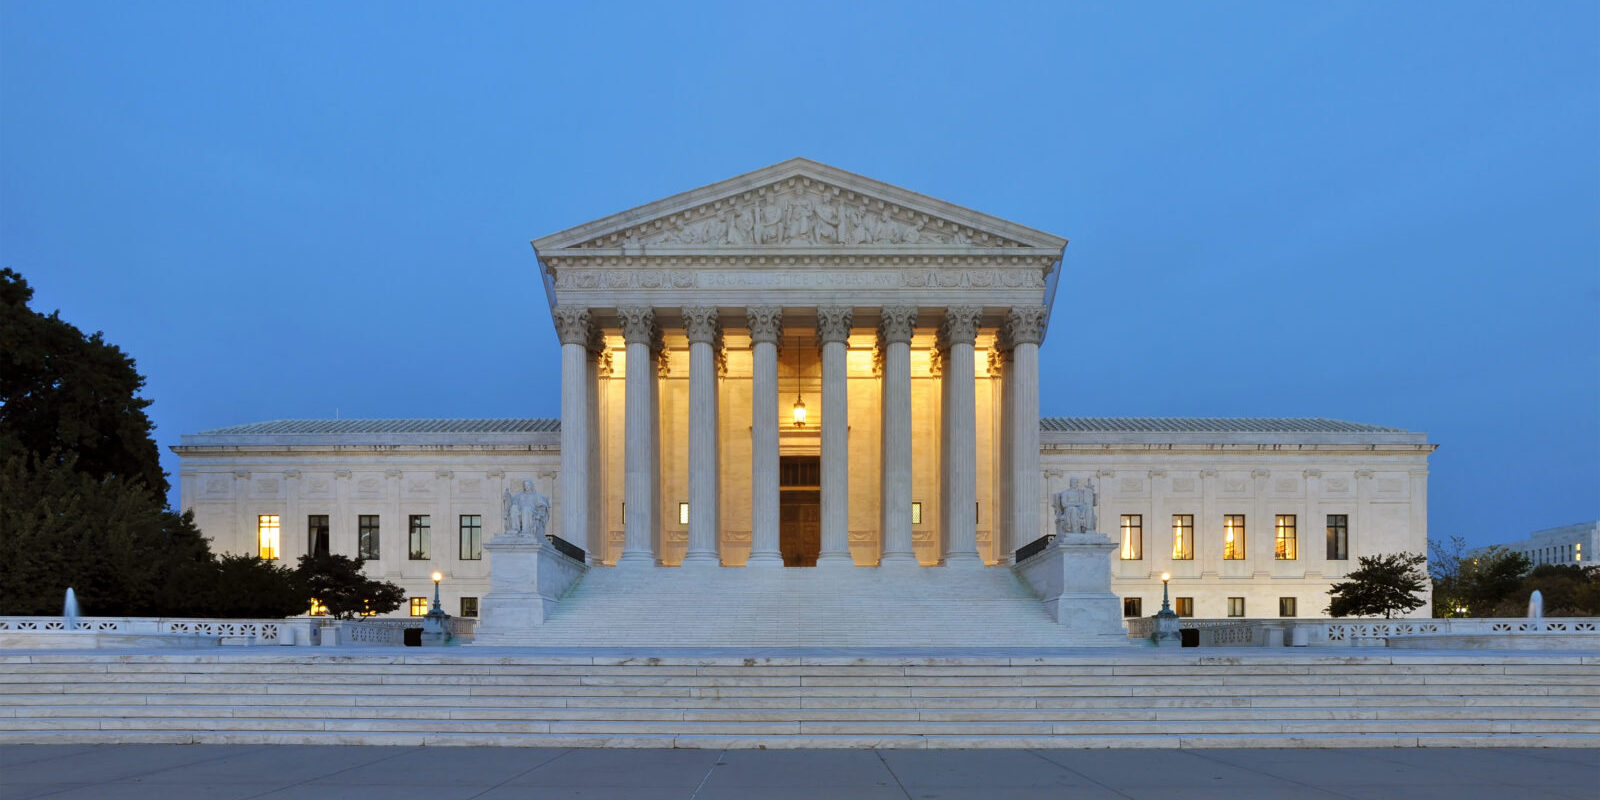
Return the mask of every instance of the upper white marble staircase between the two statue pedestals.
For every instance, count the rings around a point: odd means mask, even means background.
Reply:
[[[1006,568],[595,568],[530,643],[549,646],[1061,646]]]

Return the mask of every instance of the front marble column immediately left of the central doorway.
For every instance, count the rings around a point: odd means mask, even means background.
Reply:
[[[744,310],[750,328],[750,558],[749,566],[782,566],[778,542],[778,339],[782,309]]]

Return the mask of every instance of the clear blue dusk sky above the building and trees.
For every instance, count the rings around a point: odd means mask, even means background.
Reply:
[[[528,240],[795,155],[1070,238],[1046,414],[1397,426],[1435,538],[1600,517],[1594,2],[0,3],[0,264],[163,451],[555,416]]]

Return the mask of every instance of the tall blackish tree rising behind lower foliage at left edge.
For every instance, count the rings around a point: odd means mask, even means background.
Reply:
[[[34,290],[0,269],[0,458],[74,459],[165,498],[166,474],[139,397],[144,376],[101,333],[27,307]]]

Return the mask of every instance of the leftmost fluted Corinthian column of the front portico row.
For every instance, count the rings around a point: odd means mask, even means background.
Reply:
[[[562,339],[562,538],[589,542],[589,309],[557,306]]]

